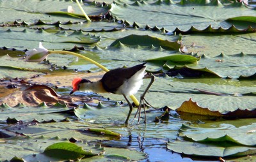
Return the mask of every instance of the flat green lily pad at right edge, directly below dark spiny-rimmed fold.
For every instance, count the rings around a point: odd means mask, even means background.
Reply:
[[[193,34],[183,36],[182,41],[188,52],[204,54],[209,57],[218,55],[253,54],[255,33],[250,34]],[[225,58],[224,58],[225,63]]]

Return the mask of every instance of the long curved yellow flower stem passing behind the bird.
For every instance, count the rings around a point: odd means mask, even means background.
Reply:
[[[96,66],[98,66],[99,68],[101,68],[102,70],[108,72],[108,68],[106,68],[105,66],[102,66],[102,64],[97,63],[96,61],[85,57],[84,55],[81,54],[77,54],[75,52],[70,52],[67,50],[49,50],[48,51],[49,54],[68,54],[68,55],[75,55],[76,57],[80,57],[81,59],[84,59],[86,61],[89,61],[90,63],[95,64]],[[136,97],[134,95],[131,95],[130,98],[132,99],[132,101],[134,102],[134,104],[138,107],[140,105],[140,102],[138,101],[138,99],[136,99]]]

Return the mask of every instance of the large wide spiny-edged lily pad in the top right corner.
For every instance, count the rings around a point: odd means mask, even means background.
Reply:
[[[232,3],[223,4],[220,1],[207,2],[165,3],[163,1],[160,3],[145,3],[145,1],[142,1],[134,3],[133,1],[118,1],[118,3],[112,5],[111,13],[118,20],[136,22],[140,27],[157,26],[158,28],[164,27],[168,31],[174,31],[176,27],[179,27],[182,31],[187,31],[191,26],[204,30],[210,24],[214,28],[228,28],[232,24],[225,20],[230,17],[255,15],[252,9],[245,8],[241,3],[241,6],[235,6]],[[214,2],[216,3],[214,4]],[[145,15],[150,18],[145,18]],[[246,29],[247,27],[247,24],[237,26],[238,29]]]

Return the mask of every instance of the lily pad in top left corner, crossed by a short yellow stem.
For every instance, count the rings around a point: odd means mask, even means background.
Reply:
[[[36,5],[35,5],[36,4]],[[75,13],[83,15],[79,9],[76,1],[1,1],[0,8],[3,11],[5,17],[1,19],[1,22],[13,22],[15,20],[21,20],[33,24],[36,20],[40,19],[45,22],[81,22],[84,18],[71,17],[70,14],[51,14],[47,13],[58,13],[60,11],[67,11],[68,6],[72,6]],[[104,7],[97,6],[97,4],[84,4],[83,9],[86,10],[87,15],[100,15],[101,13],[108,13],[109,6]],[[15,11],[15,12],[13,12]]]

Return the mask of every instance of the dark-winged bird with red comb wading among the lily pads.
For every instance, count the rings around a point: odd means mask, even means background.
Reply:
[[[85,78],[74,78],[74,80],[72,81],[73,89],[70,92],[70,95],[76,91],[93,91],[96,93],[110,92],[113,94],[122,94],[129,105],[129,113],[125,120],[125,124],[128,124],[133,106],[129,99],[127,99],[127,96],[136,94],[136,92],[138,92],[141,85],[143,84],[143,77],[145,77],[146,75],[145,64],[146,63],[142,63],[136,66],[132,66],[130,68],[116,68],[114,70],[110,70],[106,72],[103,77],[97,82],[92,82]],[[154,77],[152,77],[150,84],[148,84],[145,92],[143,92],[143,94],[141,95],[140,105],[138,107],[136,115],[138,114],[138,112],[140,113],[139,109],[141,108],[143,101],[145,101],[144,96],[153,82]],[[146,115],[145,106],[143,106],[143,108]],[[134,118],[136,117],[136,115],[134,116]],[[140,114],[138,122],[140,122]]]

